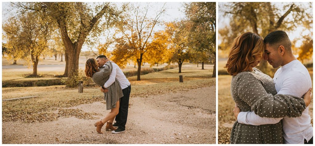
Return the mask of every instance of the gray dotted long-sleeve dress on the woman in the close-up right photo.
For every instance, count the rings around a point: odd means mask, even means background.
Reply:
[[[277,94],[268,75],[254,68],[253,72],[240,72],[232,76],[231,95],[241,111],[254,111],[261,117],[297,117],[305,110],[302,98]],[[260,126],[236,121],[231,131],[231,143],[283,143],[282,124]]]

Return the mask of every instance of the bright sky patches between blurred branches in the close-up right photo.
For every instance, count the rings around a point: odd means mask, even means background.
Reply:
[[[219,29],[219,30],[222,29],[222,28],[224,28],[226,25],[228,25],[228,24],[230,23],[230,18],[229,18],[229,17],[223,17],[223,12],[220,10],[220,9],[223,8],[222,6],[223,6],[224,4],[225,4],[225,3],[218,3],[218,7],[219,7],[219,8],[218,8],[218,10],[219,10],[219,11],[218,11],[218,16],[219,16],[219,18],[218,18],[218,20],[219,20],[219,27],[218,27],[218,29]],[[285,5],[285,4],[287,4],[287,3],[272,3],[272,4],[276,5],[278,8],[281,8],[282,5]],[[308,6],[307,3],[299,3],[299,4]],[[281,15],[284,14],[285,11],[286,11],[286,10],[280,10]],[[312,9],[310,9],[309,12],[305,12],[305,13],[313,14]],[[286,19],[292,19],[292,15],[288,15]],[[299,26],[299,27],[296,28],[295,31],[289,32],[289,33],[288,33],[289,39],[290,39],[291,41],[293,41],[295,38],[298,38],[301,34],[302,34],[302,35],[305,35],[305,34],[309,34],[309,33],[311,33],[311,32],[313,31],[313,29],[311,29],[311,30],[304,30],[304,31],[303,31],[303,29],[304,29],[303,26]],[[264,36],[263,36],[263,37],[264,37]],[[296,45],[297,47],[299,47],[299,46],[301,46],[301,43],[302,43],[301,41],[297,41],[295,45]],[[220,37],[219,37],[219,39],[218,39],[218,44],[221,44]]]

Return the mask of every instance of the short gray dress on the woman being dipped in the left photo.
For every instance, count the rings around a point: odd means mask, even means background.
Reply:
[[[112,73],[112,62],[108,61],[105,66],[99,69],[92,76],[92,80],[95,84],[104,86],[106,81],[109,79],[109,75]],[[123,97],[123,90],[120,87],[119,82],[115,78],[115,82],[108,87],[108,92],[104,93],[104,98],[106,101],[106,110],[110,110],[116,107],[117,101]]]

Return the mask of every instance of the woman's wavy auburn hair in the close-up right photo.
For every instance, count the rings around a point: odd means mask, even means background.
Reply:
[[[247,32],[236,37],[231,43],[229,58],[224,68],[230,75],[247,71],[256,57],[262,57],[265,45],[261,36]]]

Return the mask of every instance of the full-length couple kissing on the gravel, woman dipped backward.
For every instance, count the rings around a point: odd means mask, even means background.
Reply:
[[[96,131],[102,134],[101,128],[106,123],[106,131],[112,130],[114,134],[125,132],[131,86],[123,71],[106,56],[100,55],[86,61],[85,75],[100,86],[101,92],[104,92],[106,110],[111,110],[94,124]],[[114,119],[116,123],[112,124]]]

